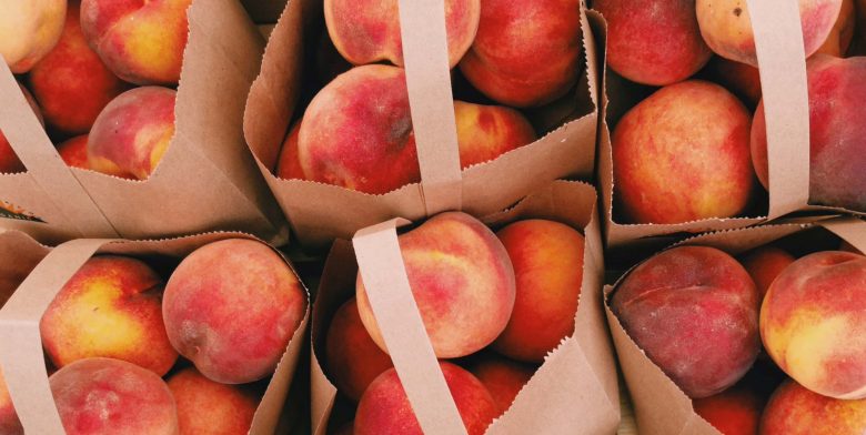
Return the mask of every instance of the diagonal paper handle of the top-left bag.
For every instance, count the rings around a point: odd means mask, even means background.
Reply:
[[[63,163],[18,87],[9,65],[0,62],[0,130],[30,175],[69,216],[82,236],[117,237],[118,232]]]

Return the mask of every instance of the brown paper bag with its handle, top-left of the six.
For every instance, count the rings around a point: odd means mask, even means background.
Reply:
[[[175,133],[145,181],[70,169],[3,62],[0,129],[28,171],[0,175],[3,225],[40,240],[190,234],[231,227],[284,242],[288,225],[242,132],[263,40],[238,0],[193,1]]]

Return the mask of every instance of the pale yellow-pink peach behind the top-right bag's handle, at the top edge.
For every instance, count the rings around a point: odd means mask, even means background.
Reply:
[[[797,0],[808,58],[820,48],[839,17],[843,0]],[[701,34],[716,54],[757,68],[755,36],[746,0],[697,0]]]

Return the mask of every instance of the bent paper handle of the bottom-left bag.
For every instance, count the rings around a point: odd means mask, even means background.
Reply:
[[[28,434],[64,434],[48,383],[39,322],[63,285],[110,240],[73,240],[53,249],[0,310],[0,364]]]

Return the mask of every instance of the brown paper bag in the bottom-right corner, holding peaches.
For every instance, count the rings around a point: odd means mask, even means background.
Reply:
[[[815,232],[818,234],[814,234]],[[817,247],[815,245],[817,240],[817,243],[826,245],[822,247],[835,249],[838,246],[835,240],[834,244],[826,243],[828,239],[832,239],[832,234],[842,237],[859,250],[866,250],[866,222],[855,218],[828,219],[817,224],[782,223],[721,231],[687,239],[674,246],[713,246],[736,255],[795,235],[799,237],[797,244],[800,246]],[[632,396],[640,433],[651,435],[721,435],[716,428],[694,412],[692,399],[646,356],[644,351],[625,332],[607,304],[614,289],[615,286],[605,287],[605,313],[616,346],[617,358]]]

